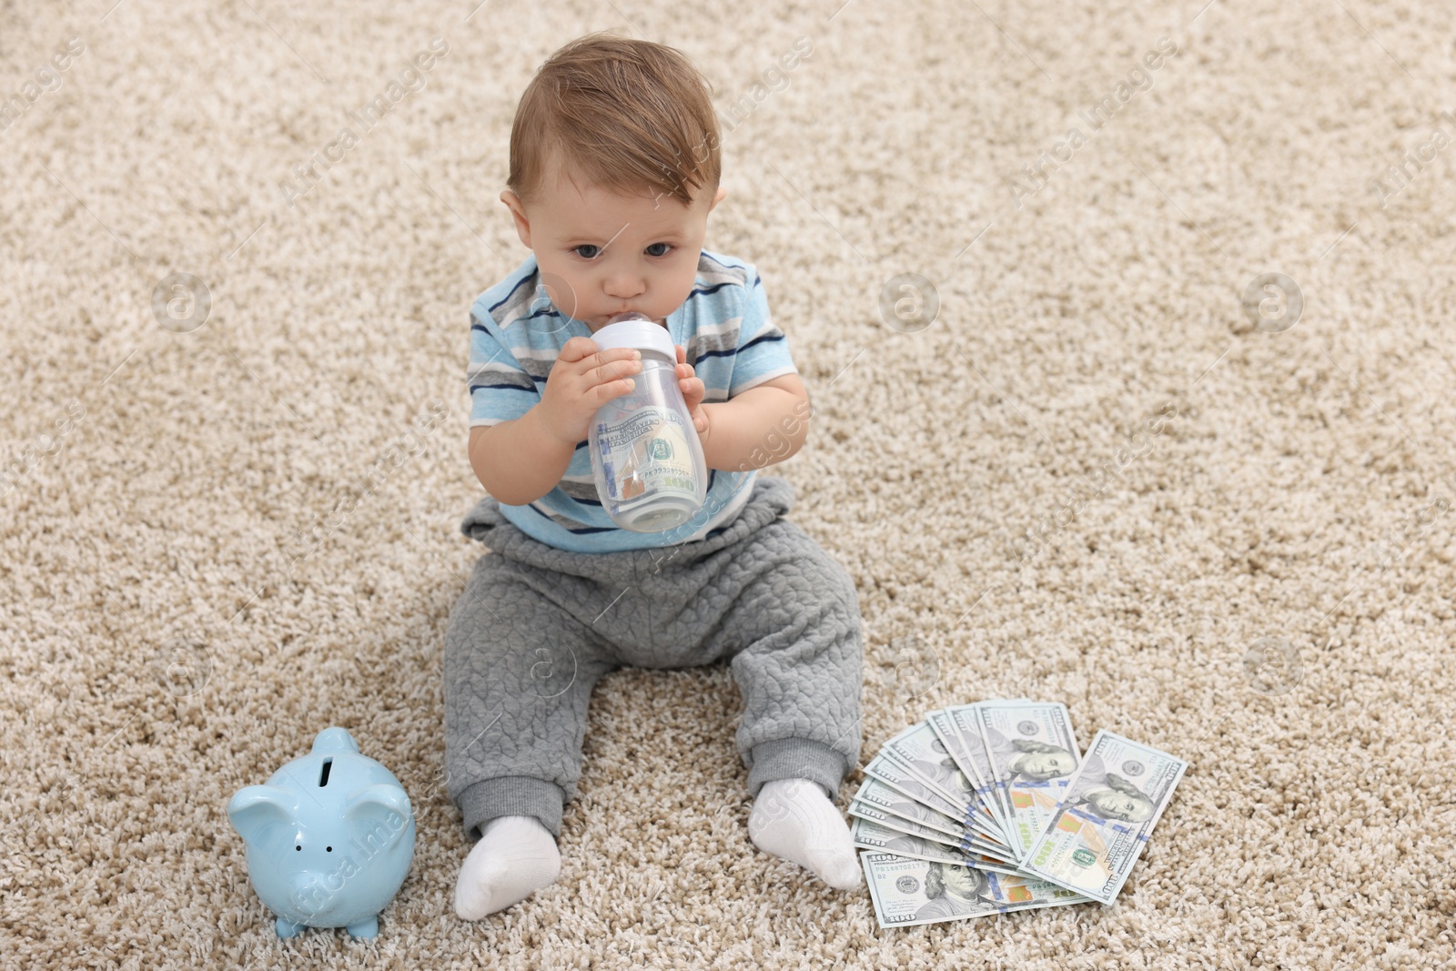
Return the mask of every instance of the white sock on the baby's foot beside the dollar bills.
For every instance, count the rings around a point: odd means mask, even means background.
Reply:
[[[849,825],[817,782],[763,783],[748,814],[748,839],[764,853],[807,866],[836,889],[865,882]]]

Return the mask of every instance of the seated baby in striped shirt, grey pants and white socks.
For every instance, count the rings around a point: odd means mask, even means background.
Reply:
[[[862,884],[834,796],[859,763],[853,581],[782,518],[757,469],[808,435],[808,393],[753,263],[703,249],[722,201],[705,79],[676,49],[579,38],[536,73],[511,128],[511,210],[533,250],[470,314],[470,466],[488,546],[446,636],[446,769],[467,839],[456,913],[478,920],[556,881],[587,702],[623,665],[729,659],[753,843],[834,888]],[[614,526],[587,435],[641,371],[591,335],[636,310],[665,328],[709,469],[662,533]]]

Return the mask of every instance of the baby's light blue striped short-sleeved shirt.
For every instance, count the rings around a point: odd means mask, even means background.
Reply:
[[[702,250],[693,290],[667,317],[673,344],[687,351],[702,379],[703,402],[725,402],[783,374],[798,374],[788,339],[769,316],[753,263]],[[582,320],[561,313],[546,296],[531,253],[470,307],[470,427],[520,418],[542,400],[561,348],[591,336]],[[757,470],[708,470],[702,512],[674,530],[633,533],[612,521],[591,476],[587,440],[577,443],[566,473],[526,505],[501,502],[501,515],[527,536],[579,553],[671,546],[722,531],[743,510]]]

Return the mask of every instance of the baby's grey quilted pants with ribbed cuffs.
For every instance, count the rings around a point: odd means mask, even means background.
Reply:
[[[446,633],[446,785],[467,839],[499,815],[561,836],[591,689],[623,665],[731,658],[750,795],[799,777],[836,798],[859,763],[859,600],[844,568],[779,518],[792,505],[788,480],[760,473],[722,531],[614,553],[540,543],[491,496],[466,515],[460,530],[489,547]]]

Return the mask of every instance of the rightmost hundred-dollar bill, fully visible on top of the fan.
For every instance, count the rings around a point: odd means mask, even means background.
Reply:
[[[1182,758],[1099,731],[1022,868],[1112,903],[1187,769]]]

